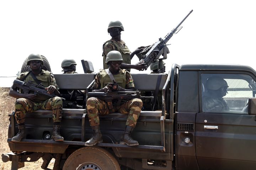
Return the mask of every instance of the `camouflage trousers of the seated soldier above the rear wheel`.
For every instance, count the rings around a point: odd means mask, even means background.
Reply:
[[[114,112],[129,114],[126,125],[135,127],[140,115],[142,105],[142,100],[139,98],[133,98],[121,106],[114,106],[113,110]],[[91,126],[100,124],[99,115],[107,115],[111,113],[107,103],[96,97],[90,97],[87,100],[86,107]]]

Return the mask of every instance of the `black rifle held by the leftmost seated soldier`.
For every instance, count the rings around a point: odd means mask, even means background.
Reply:
[[[45,87],[39,86],[37,84],[33,84],[32,81],[28,81],[27,83],[25,83],[24,81],[14,80],[13,87],[14,88],[18,87],[18,88],[22,89],[25,94],[28,94],[29,91],[33,91],[34,94],[37,96],[43,95],[43,96],[47,96],[49,98],[57,97],[55,95],[47,93],[47,91],[45,90]]]

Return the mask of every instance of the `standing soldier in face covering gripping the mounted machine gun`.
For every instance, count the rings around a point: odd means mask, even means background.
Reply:
[[[103,44],[103,68],[107,69],[108,65],[106,64],[106,56],[108,52],[116,50],[119,51],[123,58],[123,63],[121,69],[127,69],[130,72],[130,69],[144,70],[147,69],[145,63],[138,62],[136,64],[131,64],[133,56],[139,53],[143,47],[138,47],[134,52],[130,52],[125,42],[121,40],[121,31],[124,31],[123,24],[120,21],[111,21],[108,24],[108,33],[112,37],[110,40],[106,41]]]

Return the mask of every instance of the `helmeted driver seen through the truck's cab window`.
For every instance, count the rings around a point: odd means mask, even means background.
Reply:
[[[228,93],[228,83],[220,77],[210,77],[207,80],[207,94],[203,96],[203,112],[229,111],[228,104],[222,98]]]

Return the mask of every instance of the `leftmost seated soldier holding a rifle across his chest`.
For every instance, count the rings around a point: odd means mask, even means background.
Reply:
[[[31,54],[28,56],[27,66],[30,66],[31,71],[21,73],[17,80],[32,81],[34,84],[40,84],[48,91],[49,94],[59,95],[59,87],[53,75],[41,69],[43,60],[39,54]],[[22,90],[17,92],[15,85],[11,86],[9,91],[11,97],[17,98],[15,102],[15,118],[18,123],[19,132],[12,138],[12,141],[21,141],[26,137],[25,129],[25,114],[32,113],[38,109],[53,110],[53,133],[52,140],[63,141],[64,138],[60,136],[60,121],[62,119],[62,98],[53,97],[49,98],[44,96],[37,96],[32,92],[25,94]]]

